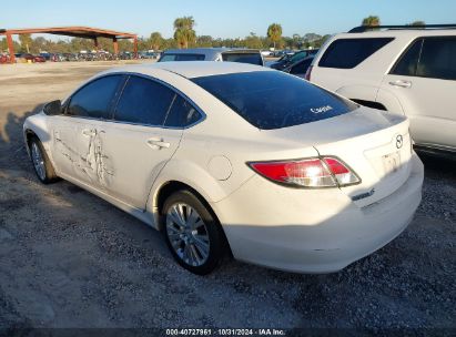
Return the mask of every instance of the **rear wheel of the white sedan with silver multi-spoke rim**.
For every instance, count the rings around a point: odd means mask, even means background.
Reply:
[[[161,211],[162,233],[174,259],[193,274],[214,270],[225,255],[226,241],[212,212],[190,191],[170,195]]]

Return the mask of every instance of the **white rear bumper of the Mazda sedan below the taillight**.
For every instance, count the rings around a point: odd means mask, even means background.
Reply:
[[[336,188],[294,190],[254,176],[213,204],[235,258],[297,273],[332,273],[383,247],[412,221],[423,164],[389,196],[356,206]],[[264,192],[264,193],[263,193]]]

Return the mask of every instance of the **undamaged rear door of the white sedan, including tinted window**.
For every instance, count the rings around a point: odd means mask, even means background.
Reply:
[[[103,155],[110,159],[109,194],[144,208],[160,171],[178,150],[185,114],[182,98],[149,78],[129,78],[114,110],[114,121],[101,135]],[[178,115],[178,116],[176,116]]]

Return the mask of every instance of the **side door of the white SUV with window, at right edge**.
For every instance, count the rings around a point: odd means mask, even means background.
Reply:
[[[385,75],[382,89],[401,101],[416,143],[456,149],[456,37],[412,42]]]

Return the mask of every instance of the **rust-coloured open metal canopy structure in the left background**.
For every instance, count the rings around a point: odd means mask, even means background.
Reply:
[[[12,43],[12,35],[14,34],[54,34],[65,35],[73,38],[91,39],[94,42],[95,49],[98,49],[98,38],[112,39],[114,45],[114,53],[119,53],[118,40],[120,39],[133,39],[134,55],[138,54],[138,34],[118,32],[113,30],[90,28],[90,27],[52,27],[52,28],[30,28],[30,29],[0,29],[0,35],[7,37],[8,49],[10,52],[10,62],[14,62],[14,48]]]

